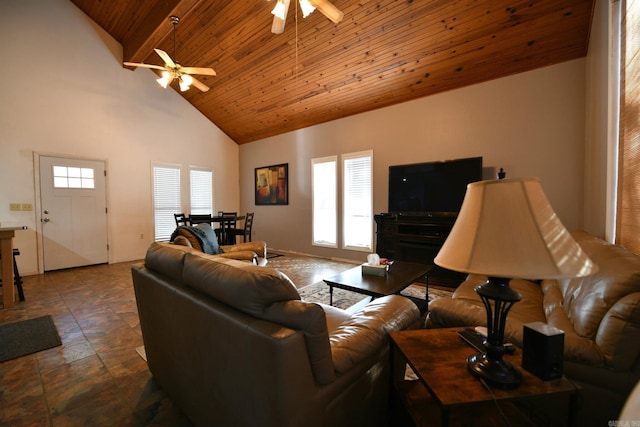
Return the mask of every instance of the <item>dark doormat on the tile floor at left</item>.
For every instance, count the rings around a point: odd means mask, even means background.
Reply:
[[[0,362],[62,345],[51,316],[0,325]]]

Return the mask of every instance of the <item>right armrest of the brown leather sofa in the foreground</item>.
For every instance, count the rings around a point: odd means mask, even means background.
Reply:
[[[415,328],[420,311],[408,298],[389,295],[356,311],[329,335],[331,357],[337,373],[348,371],[388,345],[391,331]]]

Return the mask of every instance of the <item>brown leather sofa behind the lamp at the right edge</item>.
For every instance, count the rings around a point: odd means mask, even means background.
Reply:
[[[583,231],[572,233],[598,265],[589,277],[530,282],[512,280],[522,295],[507,318],[506,338],[522,345],[523,325],[542,321],[564,331],[564,373],[582,387],[581,426],[616,420],[640,379],[640,256]],[[469,276],[453,298],[429,307],[427,327],[486,325]]]

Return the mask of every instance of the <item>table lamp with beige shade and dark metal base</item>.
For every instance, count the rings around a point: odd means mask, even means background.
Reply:
[[[510,279],[582,277],[597,271],[558,219],[538,178],[469,184],[434,262],[488,277],[475,288],[487,310],[485,352],[469,356],[467,365],[475,375],[504,389],[517,387],[522,377],[503,359],[507,314],[521,299],[509,287]]]

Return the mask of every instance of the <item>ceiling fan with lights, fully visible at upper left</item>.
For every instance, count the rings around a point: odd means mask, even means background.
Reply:
[[[176,57],[176,26],[178,22],[180,22],[180,18],[177,16],[169,17],[171,21],[171,25],[173,25],[173,57]],[[209,87],[192,77],[191,74],[199,74],[204,76],[215,76],[216,72],[212,68],[202,68],[202,67],[183,67],[182,65],[176,63],[171,59],[171,57],[164,50],[154,49],[158,56],[162,58],[164,61],[164,67],[160,65],[152,65],[152,64],[142,64],[137,62],[125,62],[124,65],[130,67],[143,67],[143,68],[152,68],[154,70],[162,70],[162,77],[157,79],[156,81],[160,86],[166,89],[167,86],[174,80],[177,79],[180,84],[180,90],[182,92],[189,90],[191,85],[197,87],[202,92],[206,92],[209,90]]]

